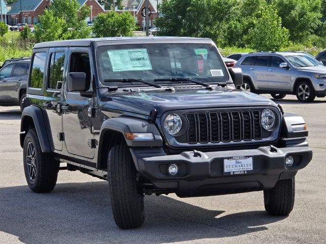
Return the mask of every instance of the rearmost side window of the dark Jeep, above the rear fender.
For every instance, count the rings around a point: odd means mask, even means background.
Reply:
[[[30,81],[30,86],[33,88],[42,88],[45,60],[46,52],[37,52],[34,54]]]

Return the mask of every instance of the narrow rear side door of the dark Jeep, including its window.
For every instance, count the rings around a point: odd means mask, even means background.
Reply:
[[[61,151],[63,145],[62,134],[62,84],[65,71],[65,49],[50,48],[47,65],[46,86],[43,99],[43,108],[46,111],[53,146]]]

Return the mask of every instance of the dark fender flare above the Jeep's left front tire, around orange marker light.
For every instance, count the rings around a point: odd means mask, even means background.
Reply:
[[[145,119],[131,117],[115,117],[106,119],[100,131],[100,145],[104,139],[104,134],[107,130],[122,133],[126,143],[130,147],[162,147],[163,140],[156,126]],[[129,140],[125,137],[125,132],[130,133],[153,133],[154,140]]]

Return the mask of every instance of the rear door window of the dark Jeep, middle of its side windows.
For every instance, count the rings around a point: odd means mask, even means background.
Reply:
[[[50,72],[47,88],[61,89],[63,80],[63,69],[65,64],[64,52],[53,52],[51,54]]]

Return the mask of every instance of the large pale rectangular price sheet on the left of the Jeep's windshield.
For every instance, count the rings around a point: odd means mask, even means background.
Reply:
[[[108,50],[113,72],[152,70],[146,48]]]

